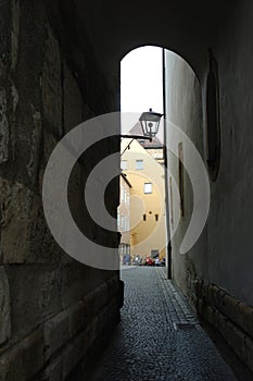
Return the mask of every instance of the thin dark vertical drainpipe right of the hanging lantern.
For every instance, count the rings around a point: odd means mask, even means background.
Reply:
[[[168,205],[168,174],[167,174],[167,132],[166,132],[166,83],[165,83],[165,49],[163,48],[163,112],[164,112],[164,167],[165,167],[165,214],[166,214],[166,229],[167,229],[167,247],[166,247],[166,266],[167,266],[167,279],[172,279],[172,245],[170,245],[170,230],[169,230],[169,205]]]

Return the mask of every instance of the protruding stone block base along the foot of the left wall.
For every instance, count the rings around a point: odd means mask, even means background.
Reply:
[[[78,362],[86,362],[86,354],[103,343],[118,322],[117,304],[109,299],[109,284],[102,283],[96,292],[67,309],[55,314],[31,334],[0,357],[0,380],[64,380]],[[114,300],[117,299],[114,295]],[[96,315],[85,309],[97,306]],[[106,307],[103,307],[104,305]],[[104,343],[103,343],[104,344]],[[91,360],[91,358],[90,358]],[[43,369],[45,364],[48,364]]]

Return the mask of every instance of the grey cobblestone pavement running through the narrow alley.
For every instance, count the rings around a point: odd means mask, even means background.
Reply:
[[[126,267],[122,322],[92,381],[236,380],[163,268]]]

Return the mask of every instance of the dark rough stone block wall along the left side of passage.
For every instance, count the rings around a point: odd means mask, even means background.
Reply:
[[[92,364],[87,354],[119,320],[118,272],[73,260],[43,217],[43,171],[56,143],[117,107],[116,84],[89,76],[97,65],[90,50],[64,41],[61,12],[58,25],[49,13],[47,1],[0,0],[0,380],[64,380],[79,362]],[[101,87],[107,97],[98,107]],[[101,149],[106,156],[112,147]],[[78,162],[69,185],[80,225],[85,170]],[[112,214],[117,197],[109,202]],[[115,247],[117,237],[103,243]]]

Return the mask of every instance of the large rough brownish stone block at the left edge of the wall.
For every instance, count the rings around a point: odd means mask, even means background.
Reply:
[[[60,249],[46,225],[42,201],[21,183],[0,179],[1,255],[4,263],[56,262]]]

